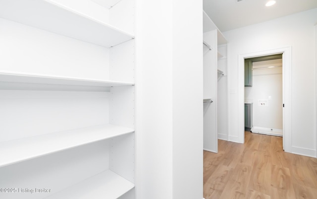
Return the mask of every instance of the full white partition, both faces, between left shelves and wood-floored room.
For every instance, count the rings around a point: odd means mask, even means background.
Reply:
[[[137,197],[202,199],[203,4],[136,2]]]

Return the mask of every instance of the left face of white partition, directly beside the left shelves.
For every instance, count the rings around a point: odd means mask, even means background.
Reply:
[[[139,199],[172,197],[172,8],[167,5],[168,0],[136,0]]]

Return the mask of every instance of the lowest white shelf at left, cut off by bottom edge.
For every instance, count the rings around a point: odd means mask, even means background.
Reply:
[[[106,170],[46,199],[117,199],[133,187],[130,181]]]

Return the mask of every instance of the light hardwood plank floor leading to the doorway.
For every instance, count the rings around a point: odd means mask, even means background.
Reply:
[[[282,138],[245,133],[204,151],[205,199],[317,199],[317,159],[285,153]]]

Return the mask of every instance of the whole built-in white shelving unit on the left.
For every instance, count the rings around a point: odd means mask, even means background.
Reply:
[[[134,198],[133,0],[0,0],[6,199]]]

